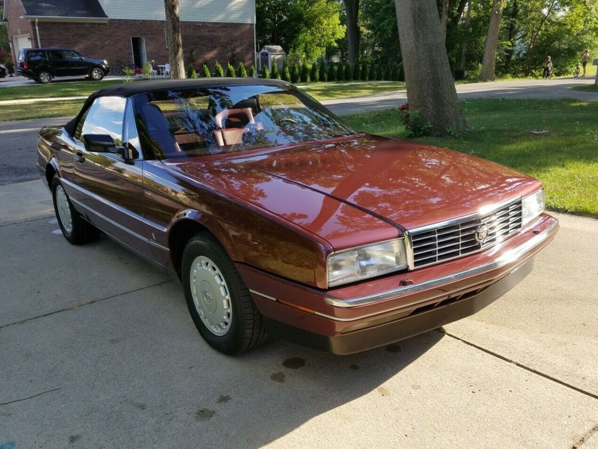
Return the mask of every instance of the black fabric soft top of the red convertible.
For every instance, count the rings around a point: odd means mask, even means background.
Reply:
[[[160,90],[193,89],[195,87],[218,87],[218,86],[239,86],[240,84],[262,84],[265,86],[285,86],[286,81],[256,79],[256,78],[188,78],[187,80],[160,80],[160,81],[136,81],[135,83],[117,84],[116,86],[105,87],[92,93],[85,101],[77,116],[65,125],[69,135],[75,134],[75,128],[81,116],[93,101],[100,96],[124,96],[130,97],[142,93],[157,92]]]

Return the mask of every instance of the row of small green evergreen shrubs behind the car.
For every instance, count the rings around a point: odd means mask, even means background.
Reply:
[[[242,62],[237,68],[231,63],[227,64],[226,71],[216,61],[213,74],[208,65],[203,64],[198,71],[193,65],[187,69],[187,78],[198,77],[253,77],[255,66],[251,66],[249,72]],[[324,62],[313,62],[311,65],[304,63],[295,63],[292,59],[285,59],[282,64],[282,70],[279,70],[277,64],[272,65],[272,71],[264,67],[261,72],[262,78],[271,78],[274,80],[289,81],[290,83],[317,83],[318,81],[404,81],[404,74],[399,64],[370,64],[362,62],[350,64],[348,62],[334,63],[325,65]]]

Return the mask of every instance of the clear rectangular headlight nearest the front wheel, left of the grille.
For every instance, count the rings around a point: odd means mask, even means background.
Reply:
[[[348,284],[407,268],[402,238],[338,251],[328,256],[328,287]]]

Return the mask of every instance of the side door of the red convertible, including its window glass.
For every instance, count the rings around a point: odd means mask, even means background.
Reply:
[[[89,151],[85,135],[102,134],[116,146],[134,150],[132,160],[109,151]],[[74,184],[77,201],[91,223],[144,256],[152,258],[144,225],[144,162],[130,100],[97,98],[78,123],[74,144]]]

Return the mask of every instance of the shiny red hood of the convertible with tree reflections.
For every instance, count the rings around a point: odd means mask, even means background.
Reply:
[[[202,159],[166,163],[312,232],[322,234],[319,225],[334,220],[349,232],[378,232],[373,241],[380,232],[392,238],[392,228],[465,216],[541,186],[479,157],[368,134]]]

